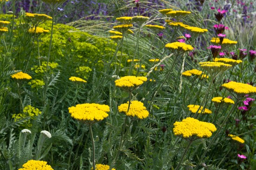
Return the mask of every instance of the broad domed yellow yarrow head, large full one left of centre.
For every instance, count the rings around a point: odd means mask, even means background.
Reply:
[[[78,104],[68,108],[68,112],[71,114],[72,118],[88,124],[107,118],[107,112],[109,111],[108,105],[100,105],[95,103]]]

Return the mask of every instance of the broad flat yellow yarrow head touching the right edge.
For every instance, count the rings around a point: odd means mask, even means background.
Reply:
[[[237,83],[235,81],[230,81],[229,83],[225,83],[222,85],[222,87],[241,95],[256,94],[256,87],[252,85],[244,84],[244,83]]]

